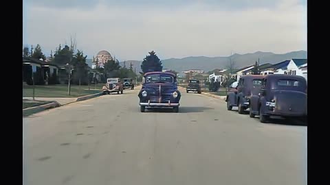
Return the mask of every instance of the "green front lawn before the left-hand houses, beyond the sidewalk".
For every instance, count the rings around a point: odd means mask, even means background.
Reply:
[[[81,97],[84,95],[91,95],[100,93],[103,84],[91,84],[90,88],[97,90],[88,90],[88,86],[71,86],[70,96],[67,94],[67,84],[35,86],[34,97]],[[33,96],[33,86],[23,85],[23,97]]]

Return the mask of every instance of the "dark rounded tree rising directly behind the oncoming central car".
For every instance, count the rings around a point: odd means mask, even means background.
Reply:
[[[141,64],[142,73],[147,73],[151,71],[162,71],[162,61],[159,60],[155,51],[149,52],[149,56],[144,58]]]

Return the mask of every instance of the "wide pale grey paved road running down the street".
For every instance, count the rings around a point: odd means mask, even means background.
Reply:
[[[263,124],[183,93],[145,112],[137,90],[23,118],[24,184],[307,184],[307,127]]]

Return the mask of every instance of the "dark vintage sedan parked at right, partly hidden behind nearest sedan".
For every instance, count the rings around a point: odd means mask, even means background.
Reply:
[[[263,75],[244,75],[239,79],[236,91],[228,93],[225,101],[227,101],[227,110],[232,110],[233,106],[239,107],[239,114],[249,108],[250,97],[258,94],[261,89]]]

